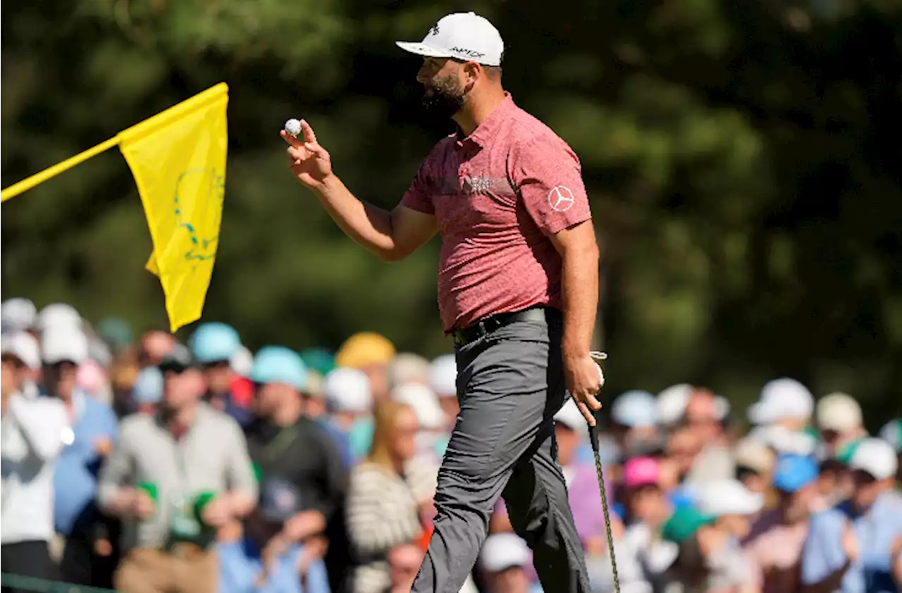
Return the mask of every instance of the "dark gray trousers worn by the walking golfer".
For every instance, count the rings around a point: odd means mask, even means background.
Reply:
[[[533,551],[546,593],[588,593],[589,581],[552,416],[564,404],[563,323],[516,322],[456,349],[460,415],[438,471],[435,532],[412,593],[458,593],[503,496]]]

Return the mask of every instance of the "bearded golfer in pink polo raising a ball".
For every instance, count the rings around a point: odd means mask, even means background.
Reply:
[[[442,235],[438,301],[454,337],[460,415],[438,474],[435,533],[412,591],[456,593],[504,497],[546,591],[588,592],[557,463],[552,416],[565,388],[586,420],[601,407],[589,356],[598,246],[574,152],[502,87],[500,33],[449,14],[422,42],[424,105],[457,123],[398,205],[357,199],[307,122],[286,132],[291,172],[347,235],[383,261]]]

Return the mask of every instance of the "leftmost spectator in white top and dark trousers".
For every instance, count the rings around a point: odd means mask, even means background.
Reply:
[[[15,335],[15,334],[14,334]],[[0,573],[46,578],[56,573],[53,468],[71,428],[59,400],[26,397],[23,340],[3,340],[0,351]]]

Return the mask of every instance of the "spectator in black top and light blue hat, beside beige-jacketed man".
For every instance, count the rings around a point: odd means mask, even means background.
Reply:
[[[244,543],[241,550],[259,550],[264,566],[295,562],[287,559],[288,554],[306,560],[309,569],[318,566],[327,548],[332,590],[344,591],[344,567],[350,561],[347,469],[326,427],[302,414],[307,369],[296,352],[266,346],[254,357],[251,379],[257,386],[256,417],[246,434],[261,498],[245,522],[253,542]],[[300,543],[305,547],[299,548]],[[310,558],[311,554],[319,557]]]

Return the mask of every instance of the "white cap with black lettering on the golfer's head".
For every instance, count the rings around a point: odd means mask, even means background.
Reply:
[[[475,13],[443,16],[423,41],[396,41],[401,50],[428,58],[456,58],[501,66],[504,41],[495,26]]]

